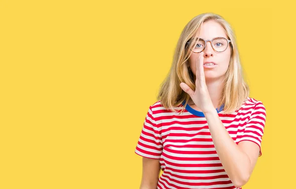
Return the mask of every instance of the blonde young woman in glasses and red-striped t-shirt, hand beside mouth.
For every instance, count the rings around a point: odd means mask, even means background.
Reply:
[[[240,189],[248,182],[266,111],[249,97],[234,33],[220,15],[200,14],[185,26],[157,99],[135,150],[143,156],[140,189]]]

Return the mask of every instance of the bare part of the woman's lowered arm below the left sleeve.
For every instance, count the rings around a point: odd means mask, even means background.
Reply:
[[[143,173],[140,189],[156,189],[159,173],[159,159],[143,157]]]

